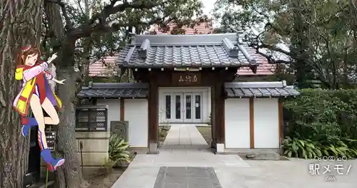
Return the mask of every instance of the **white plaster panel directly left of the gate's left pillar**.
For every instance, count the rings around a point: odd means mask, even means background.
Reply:
[[[124,120],[129,121],[130,147],[148,147],[148,100],[125,99]]]

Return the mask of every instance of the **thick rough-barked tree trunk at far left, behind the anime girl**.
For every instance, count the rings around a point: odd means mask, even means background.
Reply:
[[[0,187],[22,188],[29,136],[21,136],[19,115],[11,104],[19,93],[15,57],[19,47],[39,45],[42,0],[0,0]],[[3,17],[4,16],[4,17]]]

